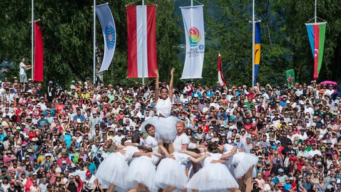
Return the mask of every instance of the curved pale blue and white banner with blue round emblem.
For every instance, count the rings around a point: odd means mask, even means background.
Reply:
[[[116,29],[108,3],[96,6],[96,15],[101,23],[104,37],[104,57],[99,72],[108,70],[114,57],[116,46]]]

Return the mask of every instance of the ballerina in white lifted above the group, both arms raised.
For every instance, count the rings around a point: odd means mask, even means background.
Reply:
[[[175,139],[177,134],[176,125],[179,119],[175,116],[170,116],[173,102],[173,78],[175,68],[170,70],[170,82],[169,90],[166,87],[159,88],[158,82],[158,71],[154,71],[156,75],[155,81],[155,102],[156,102],[156,114],[152,118],[146,120],[143,124],[144,132],[147,132],[145,126],[150,124],[154,127],[155,136],[154,138],[159,144],[168,143],[168,151],[171,153],[174,151],[172,141]]]

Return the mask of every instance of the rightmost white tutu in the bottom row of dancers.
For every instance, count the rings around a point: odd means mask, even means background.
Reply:
[[[242,177],[252,166],[256,165],[258,157],[252,153],[238,152],[233,155],[232,164],[236,165],[236,178]]]

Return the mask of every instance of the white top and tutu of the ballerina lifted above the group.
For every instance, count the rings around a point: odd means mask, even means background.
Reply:
[[[151,124],[155,129],[155,139],[161,142],[169,143],[175,139],[177,135],[177,122],[181,121],[175,116],[170,116],[172,102],[169,97],[167,99],[158,99],[156,103],[157,114],[163,117],[153,116],[142,124],[142,130],[146,132],[144,126]]]

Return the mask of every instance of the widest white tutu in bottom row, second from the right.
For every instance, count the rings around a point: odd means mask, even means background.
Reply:
[[[187,188],[199,191],[226,191],[228,188],[239,188],[239,185],[225,164],[210,163],[193,175],[187,183]]]

